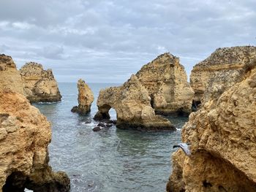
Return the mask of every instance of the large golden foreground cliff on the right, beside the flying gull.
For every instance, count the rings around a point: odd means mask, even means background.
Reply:
[[[255,65],[219,99],[189,115],[182,140],[192,155],[173,153],[167,191],[256,191]]]

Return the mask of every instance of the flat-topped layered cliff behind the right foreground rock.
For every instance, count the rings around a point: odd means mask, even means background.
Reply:
[[[196,64],[190,75],[190,84],[195,91],[194,101],[203,103],[217,99],[243,77],[244,66],[255,55],[256,47],[253,46],[225,47]]]

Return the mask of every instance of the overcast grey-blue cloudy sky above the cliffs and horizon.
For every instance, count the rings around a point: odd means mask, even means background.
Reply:
[[[256,44],[255,0],[0,0],[0,53],[59,82],[124,82],[170,52],[189,74],[218,47]]]

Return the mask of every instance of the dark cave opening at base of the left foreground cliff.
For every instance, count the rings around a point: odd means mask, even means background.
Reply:
[[[3,192],[23,192],[25,189],[26,176],[22,172],[12,172],[2,188]]]

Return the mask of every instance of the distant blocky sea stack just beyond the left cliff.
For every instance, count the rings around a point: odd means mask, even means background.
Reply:
[[[44,70],[41,64],[30,62],[20,69],[24,94],[31,102],[61,101],[58,84],[51,69]]]

